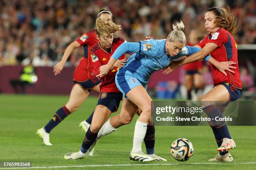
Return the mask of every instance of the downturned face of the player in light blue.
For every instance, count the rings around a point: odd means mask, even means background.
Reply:
[[[172,57],[177,55],[183,47],[184,47],[184,44],[182,44],[179,41],[170,42],[168,39],[166,40],[166,44],[165,44],[166,54],[171,55]]]

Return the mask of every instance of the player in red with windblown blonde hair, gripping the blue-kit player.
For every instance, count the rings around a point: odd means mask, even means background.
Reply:
[[[92,60],[93,68],[96,74],[100,74],[99,68],[101,65],[108,63],[110,57],[113,55],[115,49],[121,45],[125,40],[122,38],[114,38],[113,33],[121,29],[121,25],[116,25],[113,22],[108,22],[104,18],[97,18],[96,20],[97,39],[100,41],[91,48],[90,60]],[[125,63],[125,55],[120,58]],[[95,142],[97,134],[108,119],[112,112],[118,110],[123,94],[115,85],[115,74],[118,67],[112,67],[110,73],[101,77],[100,96],[95,107],[94,115],[92,117],[92,124],[87,130],[81,149],[77,153],[67,153],[65,159],[83,158],[91,145]],[[115,128],[110,129],[113,132]],[[110,132],[108,132],[110,133]]]

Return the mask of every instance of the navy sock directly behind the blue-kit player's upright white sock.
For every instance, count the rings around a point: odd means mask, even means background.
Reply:
[[[148,126],[146,135],[144,138],[144,143],[146,146],[147,154],[148,155],[154,154],[154,148],[155,148],[155,126],[154,125]]]

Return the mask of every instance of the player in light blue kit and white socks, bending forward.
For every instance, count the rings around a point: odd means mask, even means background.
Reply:
[[[98,77],[108,74],[110,68],[115,61],[123,55],[126,51],[135,52],[126,62],[125,67],[118,70],[115,76],[115,83],[123,93],[123,96],[128,98],[123,100],[120,115],[115,117],[123,122],[127,119],[123,115],[130,115],[133,117],[136,110],[139,108],[141,114],[135,125],[133,137],[133,149],[131,150],[130,159],[143,162],[151,161],[151,157],[145,155],[141,150],[141,143],[146,135],[148,122],[151,120],[151,97],[146,92],[146,86],[150,75],[160,69],[167,67],[171,60],[179,59],[183,55],[190,55],[199,50],[197,47],[189,47],[184,45],[186,38],[182,31],[184,25],[182,22],[173,26],[174,30],[168,35],[165,40],[147,40],[141,42],[127,42],[118,47],[110,58],[107,65],[100,67],[100,75]],[[217,62],[212,57],[207,58],[209,62],[223,65]],[[225,63],[224,63],[225,64]],[[225,67],[226,69],[226,67]],[[118,125],[116,125],[118,126]],[[115,125],[113,126],[115,127]]]

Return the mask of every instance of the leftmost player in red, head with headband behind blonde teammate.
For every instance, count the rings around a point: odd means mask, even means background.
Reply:
[[[105,7],[100,10],[100,12],[98,13],[98,17],[103,17],[106,20],[110,21],[112,20],[112,13],[107,7]],[[83,46],[84,56],[77,65],[77,68],[74,70],[74,86],[72,87],[69,101],[66,105],[56,111],[51,120],[43,128],[37,130],[38,136],[42,138],[45,145],[52,145],[49,141],[49,133],[51,132],[51,130],[56,127],[62,120],[64,120],[65,117],[77,110],[77,108],[90,94],[90,90],[98,93],[100,92],[100,80],[95,77],[92,63],[90,62],[90,60],[88,60],[90,47],[97,44],[97,42],[98,40],[96,38],[96,29],[85,32],[80,38],[72,42],[67,47],[61,61],[54,66],[54,75],[60,74],[72,51],[75,48]],[[90,119],[90,121],[92,119],[92,115],[93,112],[88,118]]]

